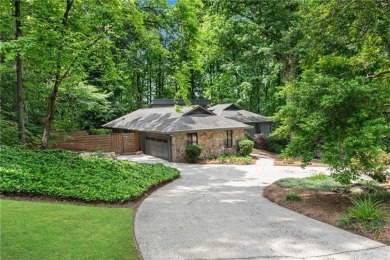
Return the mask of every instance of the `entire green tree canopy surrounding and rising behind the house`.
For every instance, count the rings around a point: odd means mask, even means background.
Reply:
[[[51,132],[152,99],[209,98],[274,116],[286,156],[372,168],[389,149],[389,11],[387,0],[1,0],[2,131],[47,147]]]

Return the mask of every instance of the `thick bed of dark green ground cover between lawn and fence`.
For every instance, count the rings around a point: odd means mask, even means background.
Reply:
[[[61,150],[1,146],[0,152],[3,193],[123,202],[180,175],[162,164],[83,158]]]

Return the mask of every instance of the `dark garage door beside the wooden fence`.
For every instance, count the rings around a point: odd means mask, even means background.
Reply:
[[[144,136],[144,153],[165,160],[170,159],[170,142],[169,137],[158,134],[145,134]]]

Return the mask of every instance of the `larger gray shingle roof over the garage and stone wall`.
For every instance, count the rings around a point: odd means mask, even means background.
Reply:
[[[201,130],[249,129],[252,126],[218,116],[199,106],[144,108],[115,119],[103,127],[141,132],[178,133]]]

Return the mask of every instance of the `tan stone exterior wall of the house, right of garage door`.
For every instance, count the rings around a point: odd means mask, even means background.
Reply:
[[[237,140],[244,138],[244,129],[233,130],[233,147],[225,148],[224,141],[226,130],[197,132],[198,145],[202,148],[202,158],[220,155],[225,151],[236,151]],[[187,146],[187,133],[174,134],[172,136],[172,161],[185,161],[185,149]]]

